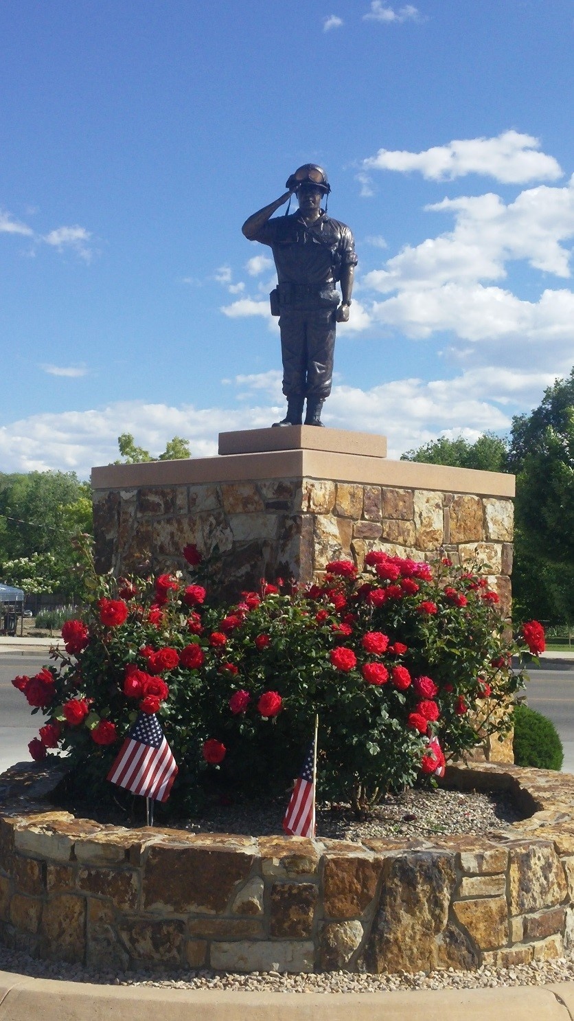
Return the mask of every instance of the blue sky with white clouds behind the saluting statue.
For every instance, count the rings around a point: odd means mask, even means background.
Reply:
[[[574,0],[6,0],[0,38],[0,471],[282,415],[241,225],[308,160],[360,260],[327,425],[397,456],[570,372]]]

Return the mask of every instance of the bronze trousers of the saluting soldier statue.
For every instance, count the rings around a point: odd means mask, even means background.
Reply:
[[[283,393],[328,397],[332,383],[335,309],[283,306],[279,318]]]

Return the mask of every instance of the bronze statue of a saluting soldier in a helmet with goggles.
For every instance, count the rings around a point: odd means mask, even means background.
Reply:
[[[336,323],[347,323],[357,256],[349,227],[321,208],[330,185],[322,167],[305,163],[289,178],[289,190],[246,220],[250,241],[270,245],[277,270],[271,311],[279,315],[283,393],[288,410],[275,426],[322,426],[321,408],[332,383]],[[297,195],[299,210],[270,217]],[[342,300],[335,290],[341,282]]]

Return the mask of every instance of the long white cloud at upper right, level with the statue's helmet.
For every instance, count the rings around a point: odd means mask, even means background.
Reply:
[[[554,156],[540,152],[539,139],[506,131],[495,138],[457,139],[423,152],[379,149],[363,160],[367,171],[419,171],[428,181],[454,181],[483,174],[504,184],[556,181],[562,168]]]

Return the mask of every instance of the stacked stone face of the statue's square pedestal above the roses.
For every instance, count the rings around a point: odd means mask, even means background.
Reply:
[[[455,564],[489,565],[492,586],[510,613],[511,499],[334,482],[271,479],[99,489],[94,492],[97,569],[136,571],[185,566],[189,542],[222,561],[219,592],[234,598],[259,579],[320,578],[330,560],[363,567],[371,549],[415,560],[438,549]]]

